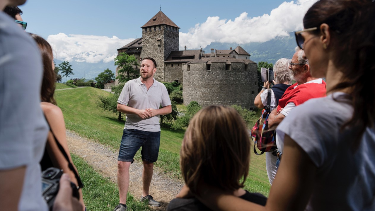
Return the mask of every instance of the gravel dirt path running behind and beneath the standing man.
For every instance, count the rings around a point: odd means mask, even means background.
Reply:
[[[118,151],[113,152],[109,147],[81,137],[74,131],[67,130],[66,139],[71,153],[80,156],[102,176],[117,183]],[[136,198],[142,194],[142,169],[143,165],[139,161],[134,161],[129,169],[129,192]],[[166,210],[169,201],[181,190],[182,186],[181,182],[169,178],[161,169],[155,167],[150,194],[162,204],[158,210]]]

